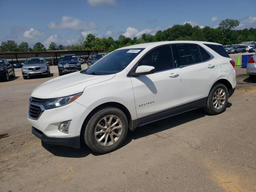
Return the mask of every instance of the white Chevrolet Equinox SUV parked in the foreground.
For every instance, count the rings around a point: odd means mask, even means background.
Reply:
[[[137,44],[40,85],[32,92],[28,120],[45,143],[85,143],[107,153],[122,145],[128,129],[196,108],[224,112],[235,87],[234,61],[220,44]]]

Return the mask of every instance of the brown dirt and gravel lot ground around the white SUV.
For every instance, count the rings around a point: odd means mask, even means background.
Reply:
[[[246,69],[236,71],[224,113],[198,109],[160,120],[128,132],[120,149],[97,155],[43,144],[31,133],[30,94],[58,70],[23,80],[16,69],[15,79],[0,82],[0,191],[255,192],[256,81]]]

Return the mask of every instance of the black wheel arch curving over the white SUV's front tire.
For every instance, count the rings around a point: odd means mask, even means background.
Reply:
[[[90,118],[99,110],[101,109],[104,109],[104,108],[108,108],[108,107],[114,107],[114,108],[118,108],[120,110],[122,110],[122,112],[124,112],[126,118],[127,118],[127,121],[128,121],[128,128],[130,130],[133,130],[133,126],[132,126],[132,116],[129,112],[129,110],[123,105],[123,104],[120,104],[118,102],[106,102],[106,103],[103,103],[103,104],[100,104],[99,106],[97,106],[96,108],[94,108],[89,114],[88,116],[86,116],[83,124],[82,124],[82,128],[81,128],[81,131],[80,131],[80,141],[83,141],[83,135],[84,135],[84,130],[85,130],[85,127],[86,127],[86,124],[88,123],[88,121],[90,120]]]

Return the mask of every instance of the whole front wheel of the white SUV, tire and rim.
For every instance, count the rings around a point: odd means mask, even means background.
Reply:
[[[100,154],[118,149],[128,132],[128,121],[122,110],[106,107],[98,110],[88,121],[84,141],[92,151]]]

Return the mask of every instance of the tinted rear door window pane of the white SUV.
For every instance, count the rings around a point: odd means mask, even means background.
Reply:
[[[173,44],[174,66],[185,66],[202,62],[198,45],[196,44]]]

